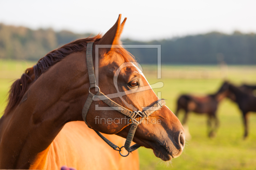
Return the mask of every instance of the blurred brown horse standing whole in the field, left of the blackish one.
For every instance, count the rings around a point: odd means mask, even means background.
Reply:
[[[188,114],[195,112],[198,114],[207,114],[208,116],[208,130],[209,137],[213,137],[219,126],[219,120],[216,115],[216,111],[219,102],[228,95],[228,83],[224,82],[220,89],[215,94],[209,94],[203,97],[197,97],[193,95],[184,94],[177,100],[177,110],[175,115],[178,116],[180,109],[185,111],[185,115],[182,121],[183,126],[186,125],[188,120]],[[213,123],[213,126],[212,126]]]

